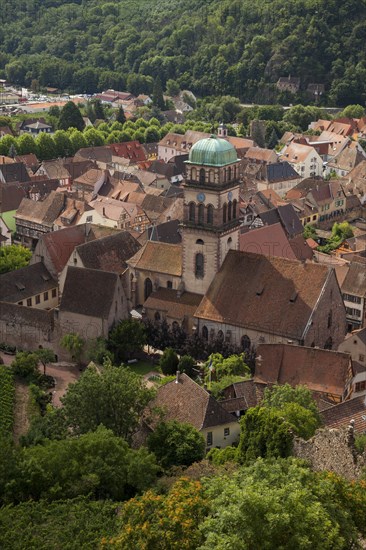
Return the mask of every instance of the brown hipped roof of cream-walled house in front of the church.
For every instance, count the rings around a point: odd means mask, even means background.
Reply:
[[[236,422],[235,418],[186,374],[158,389],[150,409],[161,408],[166,420],[192,424],[197,430]]]

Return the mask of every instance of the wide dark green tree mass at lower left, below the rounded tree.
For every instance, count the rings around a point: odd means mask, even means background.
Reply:
[[[14,495],[49,501],[90,495],[124,500],[155,481],[155,457],[100,426],[94,432],[22,450]]]

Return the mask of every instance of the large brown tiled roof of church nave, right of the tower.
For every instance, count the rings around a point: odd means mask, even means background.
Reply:
[[[328,273],[323,265],[230,250],[196,317],[299,339]]]

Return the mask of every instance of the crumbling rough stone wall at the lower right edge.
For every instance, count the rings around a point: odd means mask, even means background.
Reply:
[[[353,425],[348,428],[324,428],[305,441],[295,438],[294,455],[310,462],[316,471],[329,470],[346,479],[357,479],[366,466],[366,453],[357,455]]]

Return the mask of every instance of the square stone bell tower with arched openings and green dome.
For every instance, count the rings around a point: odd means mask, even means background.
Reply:
[[[205,294],[230,249],[239,249],[239,159],[225,139],[195,143],[186,161],[183,283]]]

